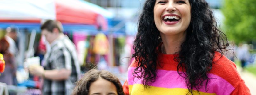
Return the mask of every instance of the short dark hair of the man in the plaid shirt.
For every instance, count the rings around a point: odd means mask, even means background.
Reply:
[[[58,21],[54,21],[54,20],[47,20],[46,22],[44,22],[44,24],[41,26],[41,30],[43,29],[47,29],[48,31],[51,31],[54,28],[58,28],[59,32],[63,32],[61,29],[61,23]]]

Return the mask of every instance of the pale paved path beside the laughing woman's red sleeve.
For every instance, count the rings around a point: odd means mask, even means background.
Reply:
[[[248,71],[242,72],[241,68],[239,67],[237,68],[237,70],[239,71],[242,79],[244,79],[247,87],[250,89],[251,94],[256,95],[256,76]]]

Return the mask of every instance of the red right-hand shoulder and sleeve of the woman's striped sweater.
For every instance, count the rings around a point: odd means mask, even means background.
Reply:
[[[233,88],[233,91],[231,95],[245,95],[245,93],[250,93],[248,87],[245,85],[244,80],[239,75],[234,62],[219,52],[215,52],[213,61],[214,63],[212,64],[210,74],[217,75],[217,78],[222,80],[222,86],[225,86],[225,82],[228,82],[230,85],[232,85],[233,87],[231,88]]]

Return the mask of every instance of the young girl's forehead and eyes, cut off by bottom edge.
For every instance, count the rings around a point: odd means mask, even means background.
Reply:
[[[89,95],[118,95],[116,86],[105,79],[99,78],[91,83]]]

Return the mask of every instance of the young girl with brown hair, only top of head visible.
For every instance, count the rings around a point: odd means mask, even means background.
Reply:
[[[124,95],[117,77],[108,71],[92,69],[77,81],[72,95]]]

